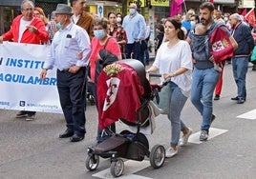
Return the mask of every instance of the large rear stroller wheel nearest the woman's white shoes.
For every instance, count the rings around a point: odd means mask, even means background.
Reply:
[[[165,160],[165,149],[161,145],[156,145],[151,149],[150,164],[154,169],[159,169]]]

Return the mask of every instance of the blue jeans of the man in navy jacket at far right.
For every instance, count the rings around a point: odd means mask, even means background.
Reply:
[[[246,98],[245,78],[248,69],[248,57],[232,58],[233,76],[237,84],[237,94],[239,99]]]

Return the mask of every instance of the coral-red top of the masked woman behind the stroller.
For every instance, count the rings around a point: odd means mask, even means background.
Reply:
[[[90,71],[91,71],[91,79],[95,83],[95,76],[96,76],[96,60],[98,59],[98,52],[99,50],[104,49],[105,45],[100,45],[99,41],[96,37],[93,38],[91,43],[91,56],[90,56]],[[115,54],[119,56],[121,54],[121,51],[119,49],[119,46],[117,44],[117,40],[115,38],[110,37],[107,45],[105,46],[105,50],[108,50],[112,54]]]

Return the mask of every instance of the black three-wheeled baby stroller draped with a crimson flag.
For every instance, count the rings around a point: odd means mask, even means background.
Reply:
[[[151,133],[154,130],[154,115],[150,104],[158,88],[158,85],[150,86],[144,66],[138,60],[121,60],[100,72],[97,81],[99,128],[106,129],[121,120],[136,128],[136,132],[125,129],[120,133],[112,133],[95,147],[89,147],[87,169],[96,170],[99,156],[110,158],[110,171],[114,177],[123,172],[124,162],[121,158],[142,161],[147,156],[154,169],[163,165],[164,147],[156,145],[149,151],[148,140],[140,132],[143,128],[149,128]]]

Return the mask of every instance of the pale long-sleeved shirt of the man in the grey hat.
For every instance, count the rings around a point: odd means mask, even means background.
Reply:
[[[81,60],[77,58],[79,51],[83,51]],[[44,69],[53,69],[53,65],[58,70],[68,70],[74,65],[85,67],[89,63],[90,52],[91,45],[87,31],[71,23],[64,30],[55,33]]]

